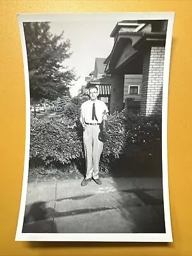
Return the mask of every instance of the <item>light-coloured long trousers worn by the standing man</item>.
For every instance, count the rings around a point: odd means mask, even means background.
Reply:
[[[98,138],[99,132],[99,125],[87,125],[83,132],[86,179],[99,178],[99,160],[103,148],[103,143]]]

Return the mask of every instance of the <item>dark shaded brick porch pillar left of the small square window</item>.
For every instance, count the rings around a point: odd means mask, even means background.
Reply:
[[[124,108],[124,74],[111,75],[110,113]]]

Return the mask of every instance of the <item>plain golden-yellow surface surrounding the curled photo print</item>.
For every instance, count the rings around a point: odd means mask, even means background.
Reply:
[[[192,255],[191,1],[0,0],[0,255]],[[25,142],[25,85],[17,13],[175,12],[168,101],[173,243],[15,242]]]

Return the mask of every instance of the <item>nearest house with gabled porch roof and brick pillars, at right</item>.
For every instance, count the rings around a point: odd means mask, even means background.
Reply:
[[[161,114],[166,28],[167,20],[123,20],[116,24],[104,70],[111,75],[111,113],[121,111],[132,100],[140,102],[143,115]]]

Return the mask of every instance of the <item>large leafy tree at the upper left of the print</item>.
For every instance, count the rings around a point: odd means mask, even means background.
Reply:
[[[63,32],[52,35],[49,22],[24,22],[24,33],[31,101],[62,97],[77,80],[74,70],[63,67],[72,54],[70,40],[64,40]]]

